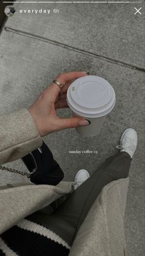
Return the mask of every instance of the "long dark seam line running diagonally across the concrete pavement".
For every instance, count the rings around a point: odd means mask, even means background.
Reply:
[[[88,55],[88,56],[96,57],[98,59],[106,60],[106,61],[111,62],[113,64],[122,65],[123,67],[128,67],[128,68],[132,68],[132,69],[136,69],[136,70],[145,72],[145,68],[143,68],[143,67],[139,67],[137,65],[131,65],[131,64],[128,64],[128,63],[120,61],[120,60],[112,59],[111,57],[105,57],[105,56],[102,56],[100,54],[95,54],[95,53],[90,52],[90,51],[85,51],[84,49],[80,49],[80,48],[74,47],[74,46],[69,46],[68,44],[64,44],[64,43],[55,41],[53,39],[44,38],[44,37],[39,36],[39,35],[34,35],[33,33],[29,33],[29,32],[23,31],[23,30],[16,30],[15,28],[10,28],[10,27],[4,27],[4,30],[7,31],[7,32],[18,34],[18,35],[27,36],[29,38],[38,39],[39,41],[44,41],[45,43],[53,44],[55,46],[60,46],[60,47],[63,47],[65,49],[69,49],[69,50],[74,51],[74,52],[79,52],[81,54],[85,54],[85,55]]]

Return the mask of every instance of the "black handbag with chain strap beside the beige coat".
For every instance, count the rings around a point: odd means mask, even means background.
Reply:
[[[27,176],[34,184],[56,186],[64,178],[64,173],[60,165],[53,159],[52,152],[44,141],[41,147],[22,157],[22,160],[28,168],[29,173],[4,167],[3,165],[0,165],[0,170]]]

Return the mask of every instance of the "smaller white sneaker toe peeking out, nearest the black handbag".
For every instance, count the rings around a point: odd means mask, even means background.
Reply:
[[[90,177],[87,170],[81,169],[77,171],[76,177],[74,178],[74,190],[76,190],[84,181],[86,181]]]

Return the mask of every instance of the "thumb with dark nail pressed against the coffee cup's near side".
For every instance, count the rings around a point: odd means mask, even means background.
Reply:
[[[74,127],[86,126],[86,125],[90,125],[90,122],[81,117],[60,119],[60,129],[74,128]]]

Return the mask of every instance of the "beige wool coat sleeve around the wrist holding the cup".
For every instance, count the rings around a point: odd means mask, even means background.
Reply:
[[[36,123],[27,109],[0,116],[0,164],[20,159],[41,145]]]

